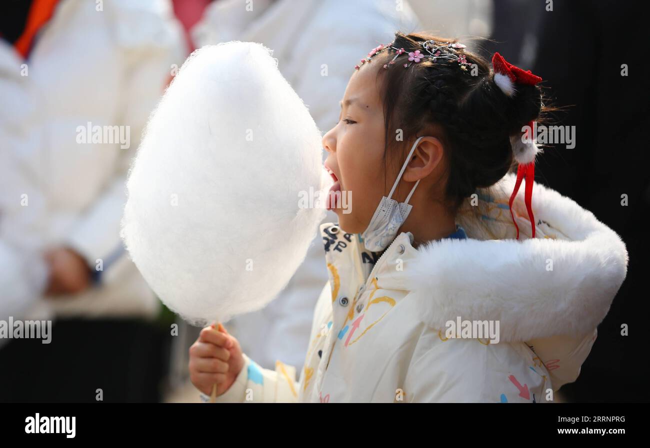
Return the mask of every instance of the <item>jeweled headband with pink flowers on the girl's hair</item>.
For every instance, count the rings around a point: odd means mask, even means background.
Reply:
[[[357,64],[356,66],[354,66],[354,68],[358,70],[366,62],[370,62],[372,57],[378,55],[378,53],[380,53],[380,51],[382,51],[383,49],[393,49],[395,50],[395,56],[393,56],[393,59],[391,59],[391,61],[388,64],[383,64],[383,68],[385,69],[389,68],[390,66],[395,64],[395,60],[400,55],[406,53],[406,50],[404,50],[403,48],[396,48],[393,46],[393,44],[395,44],[395,42],[391,42],[390,44],[382,44],[379,45],[378,47],[373,48],[368,53],[367,57],[361,59],[360,65]],[[432,62],[437,62],[437,60],[439,59],[453,60],[458,62],[458,65],[463,71],[467,71],[467,66],[470,65],[469,62],[467,62],[465,55],[463,55],[462,53],[457,53],[458,50],[467,47],[467,45],[461,44],[460,42],[436,42],[435,40],[426,40],[424,42],[421,42],[421,45],[423,51],[415,50],[415,51],[410,51],[408,53],[408,62],[404,64],[404,68],[409,68],[411,65],[417,64],[424,58],[431,60]]]

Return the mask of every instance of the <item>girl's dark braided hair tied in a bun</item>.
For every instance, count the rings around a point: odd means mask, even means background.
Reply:
[[[405,52],[387,69],[378,70],[378,80],[383,77],[379,85],[385,121],[384,161],[391,154],[395,160],[396,155],[404,157],[418,136],[439,125],[448,160],[446,199],[458,208],[476,188],[492,186],[512,168],[510,136],[521,132],[528,121],[540,118],[541,89],[517,84],[508,97],[495,84],[487,60],[466,49],[456,50],[467,59],[466,71],[457,61],[443,58],[436,62],[423,58],[404,69],[409,52],[419,49],[428,54],[421,44],[427,40],[457,42],[424,33],[396,32],[392,46]],[[395,55],[394,49],[385,47],[372,62],[377,59],[383,66]],[[408,148],[396,141],[397,129],[409,142]]]

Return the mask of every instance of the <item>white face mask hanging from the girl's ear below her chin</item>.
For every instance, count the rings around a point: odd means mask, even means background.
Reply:
[[[403,203],[398,203],[395,199],[391,199],[391,197],[393,196],[400,179],[402,179],[402,174],[404,174],[404,170],[406,169],[409,160],[411,160],[411,156],[417,147],[417,143],[420,143],[422,138],[423,137],[419,137],[415,140],[415,143],[413,143],[411,152],[408,153],[408,157],[404,161],[400,173],[397,175],[395,184],[393,184],[393,188],[391,188],[391,192],[388,197],[382,197],[382,201],[380,201],[377,210],[375,210],[372,219],[370,219],[368,228],[361,234],[363,244],[369,251],[379,252],[388,247],[388,245],[395,240],[397,231],[400,229],[404,221],[406,221],[408,214],[411,212],[412,206],[409,205],[408,201],[411,199],[411,195],[415,192],[415,188],[417,188],[417,184],[420,183],[420,180],[415,182],[413,189],[408,193],[406,201]]]

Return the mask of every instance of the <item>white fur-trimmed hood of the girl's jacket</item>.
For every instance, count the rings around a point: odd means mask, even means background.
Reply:
[[[606,316],[627,273],[625,244],[571,199],[535,184],[532,209],[523,188],[513,204],[520,240],[508,210],[514,175],[467,201],[457,223],[467,240],[422,245],[404,274],[422,319],[500,321],[502,342],[586,334]]]

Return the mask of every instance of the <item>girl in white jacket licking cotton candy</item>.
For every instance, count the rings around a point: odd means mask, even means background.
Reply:
[[[537,147],[521,131],[543,115],[541,79],[498,53],[493,67],[400,32],[361,60],[322,140],[331,197],[354,203],[333,201],[339,223],[320,227],[330,279],[300,380],[208,327],[190,349],[203,399],[217,384],[218,402],[534,403],[577,378],[627,252],[571,199],[533,188]]]

